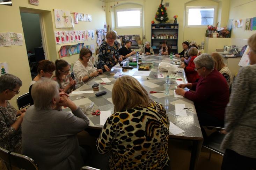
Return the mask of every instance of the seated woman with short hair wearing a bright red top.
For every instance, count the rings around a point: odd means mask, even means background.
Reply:
[[[197,71],[195,70],[194,59],[197,57],[197,48],[191,47],[188,51],[189,57],[191,57],[188,65],[186,66],[184,63],[181,64],[181,67],[185,70],[186,78],[189,83],[194,83],[199,78]]]

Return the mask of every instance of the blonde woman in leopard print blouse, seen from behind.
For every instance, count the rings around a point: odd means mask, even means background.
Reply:
[[[116,80],[112,101],[114,113],[96,142],[98,152],[110,154],[109,168],[168,169],[169,119],[162,104],[131,76]]]

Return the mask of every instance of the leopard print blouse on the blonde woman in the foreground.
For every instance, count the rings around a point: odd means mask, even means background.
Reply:
[[[169,118],[162,104],[150,103],[112,114],[96,146],[110,154],[109,168],[162,169],[168,157]]]

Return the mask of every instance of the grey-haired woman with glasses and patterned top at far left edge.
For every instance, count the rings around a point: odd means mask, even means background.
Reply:
[[[16,153],[21,153],[21,123],[26,109],[17,111],[8,100],[20,93],[21,86],[14,75],[0,77],[0,147]]]

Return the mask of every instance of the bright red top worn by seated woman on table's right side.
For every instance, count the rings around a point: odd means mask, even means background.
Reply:
[[[189,83],[194,83],[199,78],[197,71],[195,71],[196,67],[195,67],[194,59],[196,57],[197,57],[196,55],[192,56],[188,66],[185,67],[186,78],[188,79]]]

